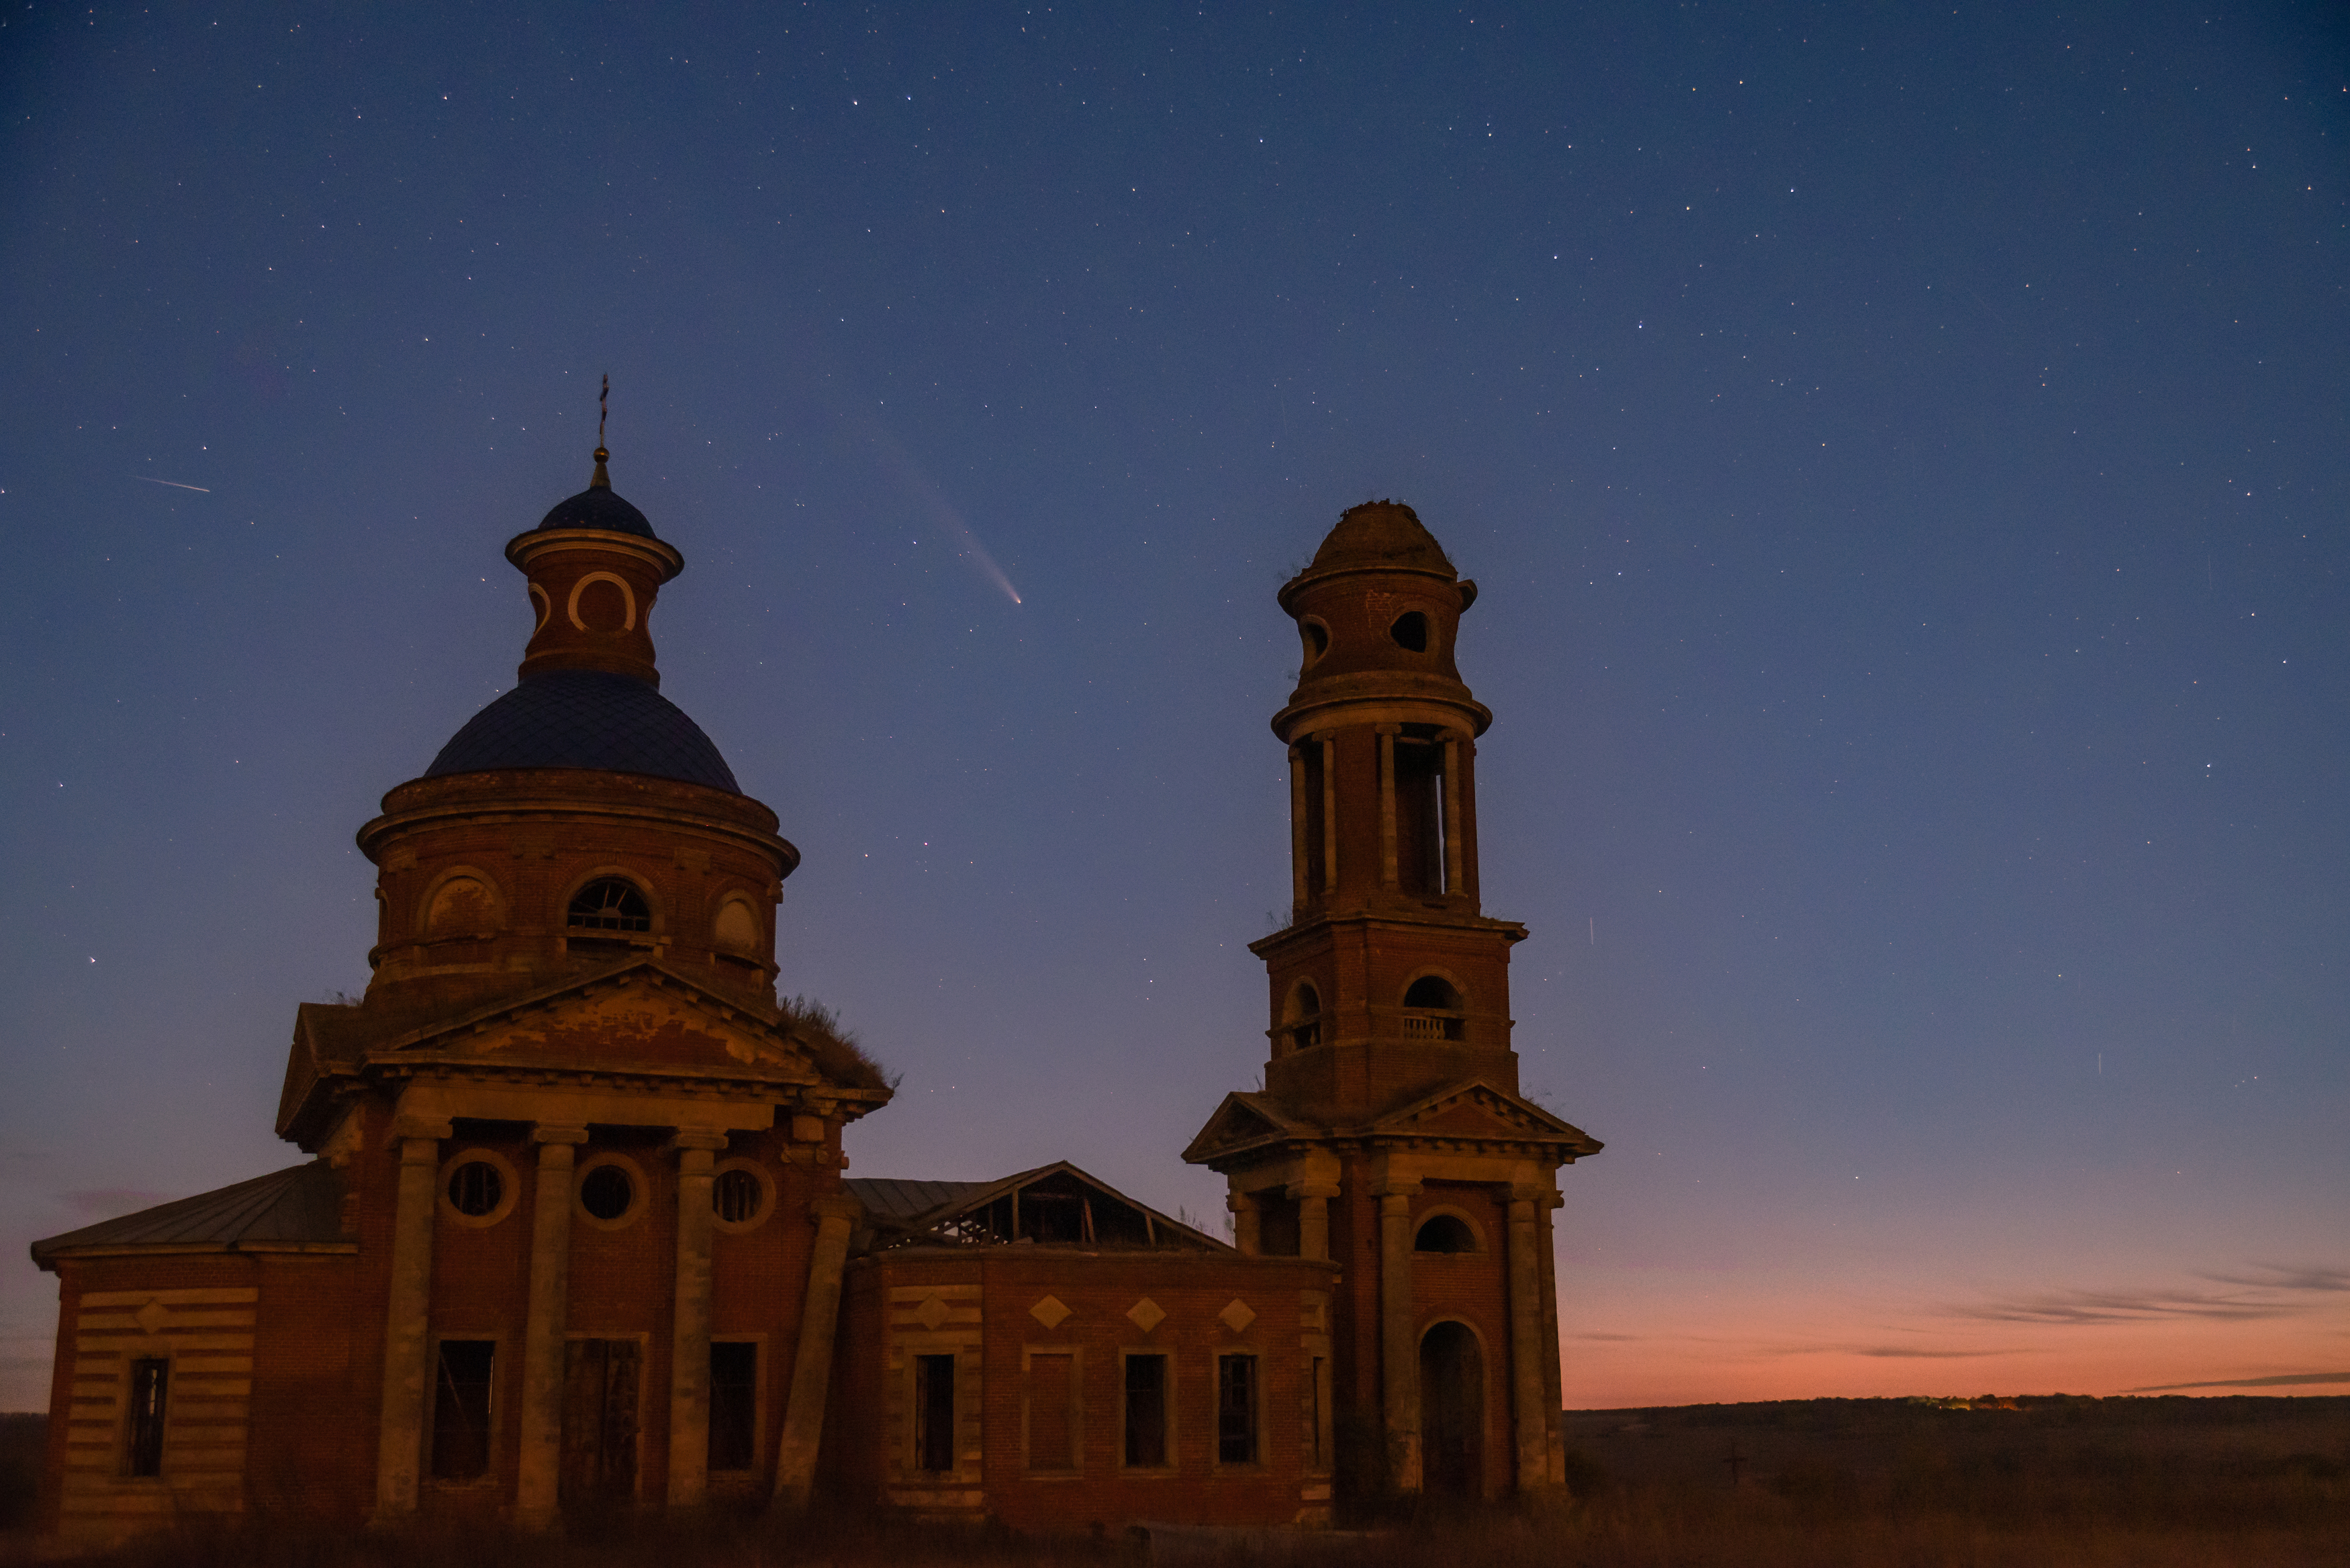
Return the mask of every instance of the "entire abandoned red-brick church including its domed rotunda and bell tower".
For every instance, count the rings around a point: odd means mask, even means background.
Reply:
[[[505,557],[519,682],[360,830],[374,978],[296,1009],[306,1164],[33,1246],[45,1528],[552,1526],[822,1495],[1025,1530],[1323,1526],[1563,1483],[1551,1211],[1478,905],[1476,583],[1410,508],[1281,590],[1304,668],[1264,1088],[1184,1159],[1236,1244],[1067,1164],[851,1178],[888,1081],[778,1006],[799,851],[658,691],[684,557],[592,484]],[[787,990],[820,990],[790,976]]]

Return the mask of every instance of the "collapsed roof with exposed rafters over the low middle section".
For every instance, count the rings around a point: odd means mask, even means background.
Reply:
[[[841,1182],[865,1206],[858,1251],[893,1246],[1069,1246],[1231,1253],[1215,1237],[1137,1204],[1069,1161],[992,1182]]]

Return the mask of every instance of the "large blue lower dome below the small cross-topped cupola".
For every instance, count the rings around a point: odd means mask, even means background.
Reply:
[[[472,715],[425,778],[494,769],[599,769],[743,792],[719,748],[677,703],[606,670],[550,670],[522,682]]]

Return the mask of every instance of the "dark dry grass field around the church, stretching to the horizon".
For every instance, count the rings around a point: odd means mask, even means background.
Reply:
[[[106,1568],[2317,1568],[2350,1566],[2350,1399],[1814,1399],[1567,1415],[1577,1502],[1422,1512],[1307,1542],[1161,1533],[1013,1540],[815,1516],[696,1530],[611,1521],[569,1540],[376,1537],[254,1521]],[[0,1427],[0,1476],[38,1418]],[[1732,1465],[1734,1460],[1734,1465]],[[1732,1474],[1737,1483],[1732,1483]],[[0,1519],[21,1519],[14,1495]],[[21,1533],[0,1561],[33,1561]]]

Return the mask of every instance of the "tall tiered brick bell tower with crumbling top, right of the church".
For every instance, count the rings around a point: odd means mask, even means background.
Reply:
[[[1518,1093],[1525,926],[1478,898],[1492,712],[1452,658],[1476,597],[1396,501],[1349,508],[1281,588],[1292,914],[1250,945],[1271,1051],[1184,1152],[1227,1178],[1243,1251],[1344,1265],[1325,1396],[1356,1497],[1565,1479],[1551,1208],[1600,1145]]]

